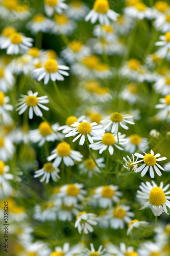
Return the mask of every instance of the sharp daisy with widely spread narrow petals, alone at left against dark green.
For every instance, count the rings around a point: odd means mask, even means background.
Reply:
[[[32,119],[33,118],[33,112],[35,113],[36,116],[42,116],[42,112],[39,109],[42,108],[46,111],[49,110],[49,108],[47,108],[47,106],[44,106],[44,103],[48,103],[49,100],[47,99],[48,96],[41,96],[41,97],[37,97],[38,92],[33,93],[32,91],[28,91],[28,95],[23,95],[21,94],[21,98],[18,100],[18,108],[16,109],[16,111],[19,110],[19,115],[21,115],[23,112],[25,112],[27,110],[27,108],[29,107],[29,118]]]

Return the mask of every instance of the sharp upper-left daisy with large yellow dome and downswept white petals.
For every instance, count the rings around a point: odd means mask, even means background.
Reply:
[[[44,67],[35,69],[34,73],[38,81],[44,79],[44,84],[47,84],[50,79],[52,81],[63,81],[63,75],[69,76],[69,73],[65,70],[69,70],[69,68],[64,65],[58,65],[55,59],[48,59]]]

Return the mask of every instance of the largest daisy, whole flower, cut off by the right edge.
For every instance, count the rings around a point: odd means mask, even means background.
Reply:
[[[165,191],[168,189],[168,187],[169,184],[167,184],[163,188],[162,181],[159,187],[154,181],[152,181],[152,184],[150,182],[146,182],[146,184],[142,182],[139,186],[141,191],[137,190],[137,197],[142,200],[144,199],[147,202],[145,202],[140,209],[150,207],[153,211],[154,216],[160,216],[162,212],[165,212],[167,214],[166,207],[170,209],[170,202],[168,201],[168,199],[170,199],[170,196],[167,195],[170,194],[170,191]]]

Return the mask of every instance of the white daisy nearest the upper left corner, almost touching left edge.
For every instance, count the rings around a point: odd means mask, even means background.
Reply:
[[[7,54],[9,55],[23,54],[33,46],[32,41],[34,41],[33,38],[14,32],[10,35],[9,39],[3,43],[1,49],[7,49]]]

